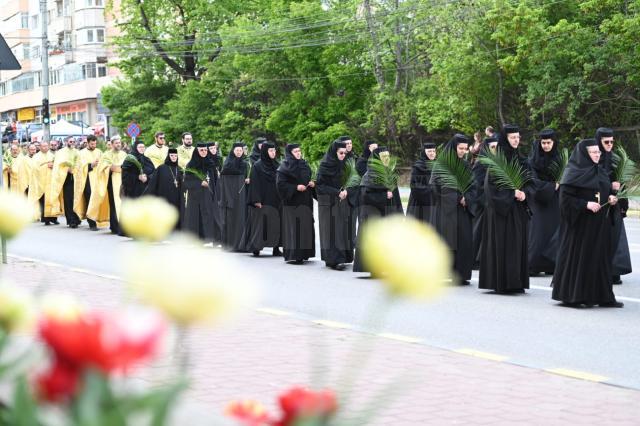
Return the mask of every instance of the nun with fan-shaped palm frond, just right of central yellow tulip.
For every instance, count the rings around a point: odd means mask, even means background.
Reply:
[[[458,148],[469,149],[469,138],[456,134],[444,147],[444,151],[453,151],[464,167],[471,172],[471,166],[460,156]],[[431,210],[431,223],[452,251],[455,284],[469,285],[473,269],[473,215],[469,205],[473,200],[473,188],[462,194],[454,188],[442,184],[441,179],[431,176],[434,207]]]

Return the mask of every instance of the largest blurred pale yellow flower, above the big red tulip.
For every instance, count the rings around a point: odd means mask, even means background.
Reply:
[[[252,305],[246,268],[194,244],[134,248],[125,275],[134,293],[180,326],[216,323]]]

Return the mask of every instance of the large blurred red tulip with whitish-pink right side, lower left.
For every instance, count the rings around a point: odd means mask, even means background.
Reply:
[[[45,317],[40,337],[58,361],[82,370],[94,367],[105,374],[128,372],[158,348],[164,321],[147,311],[83,312],[75,318]]]

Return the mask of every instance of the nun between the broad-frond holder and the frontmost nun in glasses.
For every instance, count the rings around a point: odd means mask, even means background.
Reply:
[[[549,152],[542,149],[541,141],[553,141]],[[529,274],[544,272],[553,274],[558,254],[558,228],[560,226],[560,202],[558,183],[551,167],[559,161],[558,140],[552,129],[540,132],[540,140],[533,143],[529,154],[529,167],[533,174],[533,196],[529,226]]]

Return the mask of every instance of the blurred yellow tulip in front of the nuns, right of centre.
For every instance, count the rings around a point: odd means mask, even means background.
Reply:
[[[427,299],[451,278],[449,247],[432,227],[414,218],[371,219],[361,244],[365,265],[392,295]]]

